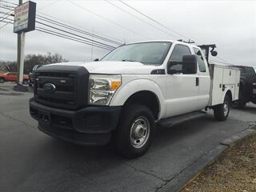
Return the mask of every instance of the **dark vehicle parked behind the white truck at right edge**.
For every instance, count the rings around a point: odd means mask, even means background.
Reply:
[[[237,66],[241,69],[238,102],[234,106],[242,109],[247,102],[256,104],[256,73],[252,66]]]

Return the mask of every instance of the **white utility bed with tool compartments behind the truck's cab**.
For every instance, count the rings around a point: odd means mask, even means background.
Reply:
[[[221,104],[227,91],[232,94],[232,101],[238,100],[240,69],[232,66],[209,65],[210,102],[208,106]]]

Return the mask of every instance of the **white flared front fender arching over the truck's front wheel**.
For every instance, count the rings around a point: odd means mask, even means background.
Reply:
[[[142,90],[151,91],[156,95],[159,104],[158,119],[162,118],[166,114],[165,98],[163,97],[162,90],[158,84],[150,79],[137,79],[122,85],[114,94],[110,106],[123,106],[132,94]]]

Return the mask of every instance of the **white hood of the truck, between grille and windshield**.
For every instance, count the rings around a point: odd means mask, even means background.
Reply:
[[[90,74],[150,74],[156,68],[141,62],[62,62],[48,66],[84,66]]]

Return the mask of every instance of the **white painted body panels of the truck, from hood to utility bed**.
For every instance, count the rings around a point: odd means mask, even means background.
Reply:
[[[141,62],[74,62],[58,63],[56,65],[84,66],[90,74],[121,74],[122,85],[115,92],[110,106],[123,106],[131,95],[139,91],[150,91],[158,98],[158,120],[178,114],[186,114],[195,110],[203,110],[207,106],[222,104],[226,92],[230,90],[232,101],[238,99],[240,70],[229,66],[210,65],[202,54],[206,71],[196,74],[167,74],[167,63],[177,45],[187,46],[190,54],[198,46],[178,41],[172,45],[162,65],[146,65]],[[150,74],[152,70],[165,70],[165,74]],[[231,74],[230,74],[231,73]],[[199,84],[196,86],[196,78]],[[225,90],[222,87],[225,86]]]

